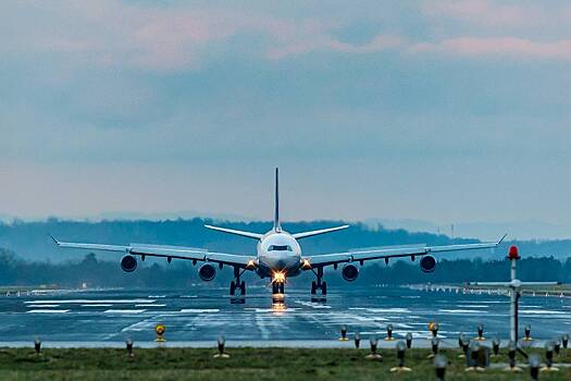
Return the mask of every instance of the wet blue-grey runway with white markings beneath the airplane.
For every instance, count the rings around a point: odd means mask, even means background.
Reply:
[[[332,287],[333,288],[333,287]],[[287,290],[284,305],[273,305],[266,288],[250,287],[245,304],[231,304],[226,288],[193,291],[75,291],[0,297],[2,342],[151,342],[154,327],[166,324],[170,342],[327,341],[346,324],[363,337],[426,337],[437,321],[442,337],[473,334],[483,323],[488,337],[508,336],[509,300],[501,295],[430,292],[407,287],[331,290],[326,302],[312,302],[307,290]],[[571,299],[524,296],[520,328],[532,324],[538,339],[571,333]]]

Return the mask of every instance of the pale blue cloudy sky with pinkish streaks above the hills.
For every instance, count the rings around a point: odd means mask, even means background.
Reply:
[[[280,167],[286,220],[566,235],[569,25],[556,0],[2,1],[0,216],[271,219]]]

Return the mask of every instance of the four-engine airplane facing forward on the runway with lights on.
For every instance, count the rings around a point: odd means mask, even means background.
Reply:
[[[286,279],[299,275],[302,272],[311,271],[315,275],[315,281],[311,283],[311,294],[318,292],[324,297],[327,294],[327,283],[323,280],[323,269],[333,266],[336,270],[343,265],[342,276],[348,281],[355,281],[359,275],[360,267],[365,261],[384,259],[388,265],[389,259],[410,257],[412,260],[420,258],[420,268],[424,272],[433,272],[436,268],[434,254],[494,248],[501,244],[506,235],[497,242],[447,245],[447,246],[394,246],[385,248],[361,249],[346,253],[322,254],[306,256],[299,245],[299,239],[305,239],[320,234],[337,232],[349,228],[342,225],[300,233],[288,233],[282,229],[280,220],[280,184],[278,169],[275,169],[275,201],[274,201],[273,228],[265,234],[245,232],[234,229],[226,229],[206,224],[204,228],[222,233],[235,234],[248,237],[257,242],[256,255],[235,255],[226,253],[211,253],[207,249],[166,246],[152,244],[129,244],[127,246],[108,244],[87,244],[60,242],[53,236],[53,242],[63,248],[117,251],[125,255],[121,259],[121,268],[126,272],[135,271],[137,258],[141,261],[146,257],[166,258],[170,263],[173,259],[190,260],[193,265],[202,262],[198,269],[198,274],[202,281],[212,281],[216,275],[216,268],[222,269],[229,266],[234,269],[234,279],[229,284],[231,296],[243,297],[246,295],[246,283],[241,275],[246,271],[252,271],[260,278],[270,278],[272,294],[284,295]],[[239,295],[237,295],[239,293]]]

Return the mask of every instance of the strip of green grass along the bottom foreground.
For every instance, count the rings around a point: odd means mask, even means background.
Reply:
[[[383,361],[365,359],[361,349],[229,348],[229,358],[213,358],[215,349],[0,349],[0,380],[435,380],[429,351],[407,352],[410,373],[393,374],[395,351],[382,351]],[[451,361],[447,380],[529,380],[529,371],[511,374],[501,370],[464,372],[457,351],[443,351]],[[571,351],[558,361],[569,361]],[[507,361],[502,354],[494,361]],[[568,368],[542,373],[541,380],[570,380]]]

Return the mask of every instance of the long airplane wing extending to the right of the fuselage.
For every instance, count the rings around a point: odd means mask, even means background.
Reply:
[[[507,235],[507,234],[506,234]],[[447,251],[460,251],[460,250],[474,250],[474,249],[484,249],[484,248],[494,248],[501,244],[504,235],[497,242],[488,242],[481,244],[467,244],[467,245],[447,245],[447,246],[411,246],[411,247],[395,247],[395,248],[382,248],[382,249],[371,249],[371,250],[360,250],[360,251],[347,251],[347,253],[336,253],[336,254],[322,254],[315,256],[309,256],[302,258],[303,261],[307,260],[309,266],[305,266],[305,269],[310,269],[314,267],[323,267],[343,262],[360,262],[365,260],[374,259],[384,259],[388,262],[389,258],[404,258],[415,256],[422,257],[427,254],[437,254],[437,253],[447,253]]]

